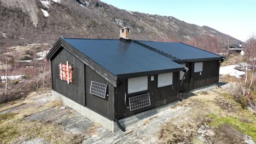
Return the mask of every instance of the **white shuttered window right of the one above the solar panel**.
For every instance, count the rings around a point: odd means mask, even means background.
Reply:
[[[158,87],[172,85],[172,73],[159,74],[158,75]]]

